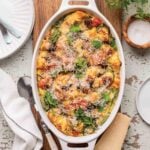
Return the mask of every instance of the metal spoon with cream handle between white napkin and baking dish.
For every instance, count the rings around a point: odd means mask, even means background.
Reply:
[[[28,100],[31,108],[35,107],[34,98],[32,94],[32,87],[31,87],[31,78],[29,76],[21,77],[18,80],[17,88],[18,88],[19,95],[24,97],[26,100]],[[58,150],[58,147],[52,137],[51,132],[49,131],[48,127],[42,120],[41,120],[41,126],[45,132],[45,136],[47,138],[50,148],[52,150]]]

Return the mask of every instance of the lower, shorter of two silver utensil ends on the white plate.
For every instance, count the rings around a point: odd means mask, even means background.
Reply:
[[[1,24],[0,24],[0,30],[2,32],[5,43],[6,44],[11,44],[12,39],[11,39],[10,35],[8,34],[8,31]]]

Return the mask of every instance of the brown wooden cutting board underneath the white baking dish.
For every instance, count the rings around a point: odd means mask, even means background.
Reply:
[[[121,38],[121,27],[122,27],[122,11],[111,10],[105,3],[105,0],[96,0],[99,10],[108,18],[108,20],[115,27],[119,37]],[[61,4],[61,0],[34,0],[35,5],[35,25],[33,31],[33,45],[35,45],[37,38],[47,22],[47,20],[57,11]],[[42,131],[44,138],[43,150],[50,150],[49,144],[44,136],[44,132],[40,125],[40,116],[33,110],[35,119]],[[57,139],[56,139],[57,140]],[[58,142],[57,142],[58,143]],[[59,145],[59,143],[58,143]]]

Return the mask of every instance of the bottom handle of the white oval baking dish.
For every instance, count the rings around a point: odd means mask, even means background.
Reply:
[[[97,139],[94,139],[86,144],[86,147],[84,146],[69,146],[69,143],[59,139],[60,145],[62,150],[94,150],[95,143]]]

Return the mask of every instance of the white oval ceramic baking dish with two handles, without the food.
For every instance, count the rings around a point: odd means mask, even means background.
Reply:
[[[58,137],[60,144],[62,146],[63,150],[68,150],[68,149],[84,149],[84,150],[92,150],[94,149],[94,145],[95,142],[97,140],[97,138],[108,128],[108,126],[111,124],[111,122],[113,121],[116,113],[118,112],[118,109],[120,107],[121,104],[121,100],[122,100],[122,96],[123,96],[123,91],[124,91],[124,82],[125,82],[125,62],[124,62],[124,55],[123,55],[123,49],[121,46],[121,42],[120,39],[116,33],[116,31],[114,30],[113,26],[111,25],[111,23],[102,15],[102,13],[98,10],[95,0],[84,0],[86,2],[88,2],[88,5],[70,5],[69,4],[70,0],[62,0],[62,4],[59,8],[59,10],[55,13],[55,15],[53,17],[51,17],[49,19],[49,21],[46,23],[46,25],[44,26],[38,41],[36,43],[35,46],[35,50],[34,50],[34,56],[33,56],[33,62],[32,62],[32,88],[33,88],[33,94],[34,94],[34,98],[35,98],[35,102],[38,108],[38,111],[42,117],[42,119],[44,120],[45,124],[48,126],[48,128]],[[74,0],[74,1],[83,1],[83,0]],[[91,135],[87,135],[87,136],[82,136],[82,137],[72,137],[72,136],[67,136],[65,134],[63,134],[62,132],[60,132],[48,119],[45,111],[42,108],[42,105],[40,103],[40,98],[39,98],[39,94],[38,94],[38,88],[37,88],[37,80],[36,80],[36,60],[37,60],[37,55],[39,52],[39,47],[41,44],[41,41],[46,33],[46,31],[57,21],[59,20],[59,18],[61,18],[62,16],[64,16],[65,14],[68,14],[70,12],[73,12],[75,10],[84,10],[88,13],[92,13],[93,15],[101,18],[105,24],[110,28],[110,31],[112,33],[112,35],[114,36],[114,38],[116,39],[116,44],[118,47],[118,51],[119,51],[119,56],[122,62],[122,67],[121,67],[121,72],[120,72],[120,76],[121,76],[121,84],[120,84],[120,92],[119,92],[119,96],[118,99],[116,101],[116,104],[109,116],[109,118],[107,119],[107,121],[98,128],[98,130],[91,134]],[[88,146],[86,148],[70,148],[68,146],[68,143],[88,143]]]

